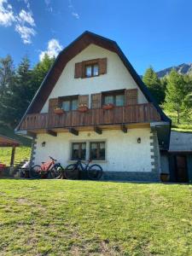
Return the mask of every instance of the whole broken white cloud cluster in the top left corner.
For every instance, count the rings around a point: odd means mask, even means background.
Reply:
[[[13,11],[12,5],[8,0],[0,0],[0,26],[15,26],[15,32],[20,34],[24,44],[32,44],[32,37],[35,36],[35,20],[30,9],[29,0],[23,0],[26,8],[21,9],[19,15]]]

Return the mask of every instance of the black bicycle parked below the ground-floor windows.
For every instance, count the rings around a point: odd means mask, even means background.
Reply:
[[[78,160],[75,164],[69,165],[64,170],[64,176],[66,178],[79,178],[80,172],[86,172],[87,176],[92,180],[97,180],[102,177],[102,166],[92,165],[90,166],[91,160],[82,161]]]

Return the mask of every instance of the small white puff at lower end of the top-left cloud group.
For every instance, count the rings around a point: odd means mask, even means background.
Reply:
[[[36,32],[32,27],[17,24],[15,31],[20,34],[24,44],[32,44],[32,36],[35,36]]]

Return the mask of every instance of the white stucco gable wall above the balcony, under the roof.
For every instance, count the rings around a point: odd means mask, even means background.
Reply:
[[[75,63],[105,57],[108,59],[106,74],[89,79],[74,79]],[[119,56],[112,51],[103,49],[95,44],[90,44],[90,46],[67,63],[67,66],[61,73],[61,77],[55,84],[55,88],[50,93],[49,98],[84,94],[90,95],[105,90],[134,88],[138,88],[137,84],[132,79],[131,74],[127,71]],[[138,89],[138,103],[145,102],[147,102],[147,99],[143,96],[142,91]],[[48,106],[49,99],[45,102],[41,113],[47,113]]]

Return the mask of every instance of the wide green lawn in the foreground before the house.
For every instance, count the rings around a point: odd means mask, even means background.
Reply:
[[[192,186],[0,180],[1,255],[192,255]]]

